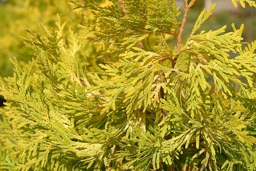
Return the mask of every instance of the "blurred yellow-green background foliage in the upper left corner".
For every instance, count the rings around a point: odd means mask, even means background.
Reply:
[[[0,76],[9,77],[13,74],[13,65],[9,58],[16,56],[24,65],[32,59],[33,50],[24,47],[23,37],[29,34],[25,29],[39,32],[38,23],[41,18],[51,26],[55,26],[56,14],[59,13],[69,27],[76,29],[82,21],[72,5],[63,0],[3,0],[0,3]]]

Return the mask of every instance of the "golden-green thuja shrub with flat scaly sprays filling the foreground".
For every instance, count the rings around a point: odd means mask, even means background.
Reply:
[[[0,170],[256,170],[256,41],[243,42],[244,25],[201,28],[213,4],[184,40],[196,0],[184,12],[175,0],[70,3],[83,32],[63,32],[61,16],[30,31],[33,60],[12,60],[0,81]]]

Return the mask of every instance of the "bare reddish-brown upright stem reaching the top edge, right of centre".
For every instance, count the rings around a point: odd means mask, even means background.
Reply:
[[[179,35],[178,35],[178,43],[177,43],[177,55],[174,57],[174,59],[172,60],[172,68],[175,67],[176,65],[176,62],[177,62],[177,59],[179,57],[179,52],[181,50],[181,47],[182,47],[182,33],[184,31],[184,26],[185,26],[185,23],[187,21],[187,17],[188,17],[188,12],[189,10],[191,9],[191,7],[194,5],[194,3],[196,2],[196,0],[192,0],[191,3],[188,4],[188,0],[184,0],[185,1],[185,13],[184,13],[184,16],[183,16],[183,19],[182,19],[182,25],[179,29]]]

